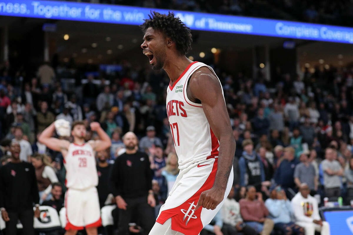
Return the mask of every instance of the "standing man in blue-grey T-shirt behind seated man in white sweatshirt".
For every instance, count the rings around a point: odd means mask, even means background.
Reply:
[[[309,150],[300,153],[300,163],[294,171],[294,183],[298,188],[302,183],[306,183],[310,188],[310,194],[314,196],[318,187],[318,178],[314,166],[309,162],[309,155]]]

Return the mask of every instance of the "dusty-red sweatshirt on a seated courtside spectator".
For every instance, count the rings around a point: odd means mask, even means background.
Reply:
[[[255,221],[268,216],[269,212],[263,201],[241,199],[240,214],[244,221]]]

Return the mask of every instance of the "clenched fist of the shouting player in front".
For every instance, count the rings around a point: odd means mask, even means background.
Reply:
[[[214,210],[222,202],[223,198],[224,192],[222,190],[210,188],[201,193],[195,209],[197,210],[202,206],[203,208]]]

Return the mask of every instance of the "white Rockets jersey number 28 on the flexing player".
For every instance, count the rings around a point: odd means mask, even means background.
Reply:
[[[89,143],[83,145],[71,143],[64,159],[64,165],[66,187],[82,190],[98,185],[96,159]]]

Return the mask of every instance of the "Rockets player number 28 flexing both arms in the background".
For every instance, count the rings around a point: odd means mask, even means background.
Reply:
[[[60,122],[56,120],[55,122]],[[39,136],[38,141],[54,151],[60,151],[66,168],[65,194],[66,227],[65,235],[75,235],[78,230],[86,228],[88,235],[97,235],[101,226],[100,206],[96,186],[98,174],[95,151],[110,147],[110,138],[97,122],[90,124],[100,140],[85,143],[86,127],[82,121],[72,123],[73,143],[53,138],[55,122],[48,126]]]

